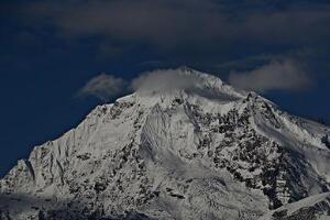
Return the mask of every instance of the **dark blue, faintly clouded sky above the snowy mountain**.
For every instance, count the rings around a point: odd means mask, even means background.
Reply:
[[[249,76],[283,109],[330,120],[328,0],[8,0],[0,21],[0,176],[102,102],[76,96],[101,73]]]

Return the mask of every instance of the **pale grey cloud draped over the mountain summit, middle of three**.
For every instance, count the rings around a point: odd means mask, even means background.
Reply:
[[[154,70],[133,79],[131,87],[138,92],[170,91],[194,89],[200,81],[196,75],[182,74],[180,69]]]

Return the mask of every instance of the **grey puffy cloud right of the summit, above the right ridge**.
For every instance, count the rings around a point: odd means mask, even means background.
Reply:
[[[261,92],[268,90],[301,90],[310,86],[307,72],[292,59],[272,61],[252,72],[231,73],[233,86]]]

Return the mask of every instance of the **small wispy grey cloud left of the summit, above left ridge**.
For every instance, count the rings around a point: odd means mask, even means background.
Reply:
[[[101,74],[90,79],[79,91],[78,96],[94,96],[102,101],[109,101],[123,91],[125,81],[112,75]]]

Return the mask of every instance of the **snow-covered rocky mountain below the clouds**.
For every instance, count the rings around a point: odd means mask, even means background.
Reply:
[[[329,219],[330,129],[191,69],[97,107],[0,180],[0,219]]]

